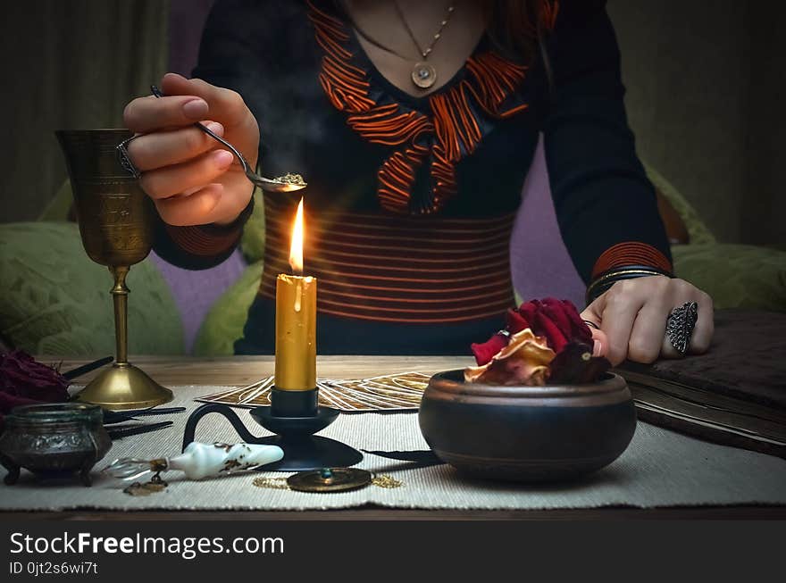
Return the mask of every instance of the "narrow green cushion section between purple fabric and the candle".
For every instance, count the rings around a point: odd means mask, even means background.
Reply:
[[[232,287],[216,300],[197,332],[193,353],[197,356],[223,356],[235,354],[235,340],[243,335],[248,308],[254,301],[259,281],[262,279],[263,262],[248,266]]]

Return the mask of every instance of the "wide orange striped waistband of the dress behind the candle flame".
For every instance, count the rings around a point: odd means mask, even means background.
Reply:
[[[275,297],[288,273],[294,205],[265,201],[259,293]],[[355,212],[305,215],[305,272],[319,280],[317,310],[370,321],[438,323],[501,316],[514,304],[514,213],[452,219]]]

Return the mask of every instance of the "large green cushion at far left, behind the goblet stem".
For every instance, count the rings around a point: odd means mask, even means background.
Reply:
[[[149,259],[128,277],[131,354],[183,354],[180,314]],[[31,354],[114,354],[112,276],[74,223],[0,225],[0,336]]]

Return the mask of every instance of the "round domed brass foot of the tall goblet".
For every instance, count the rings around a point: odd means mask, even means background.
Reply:
[[[169,403],[172,392],[162,387],[133,364],[114,363],[79,391],[77,401],[101,405],[105,409],[147,409]]]

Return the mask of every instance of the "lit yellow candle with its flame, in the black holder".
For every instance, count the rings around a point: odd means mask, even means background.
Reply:
[[[316,387],[316,278],[303,276],[303,199],[297,205],[289,266],[276,279],[276,379],[282,391]]]

